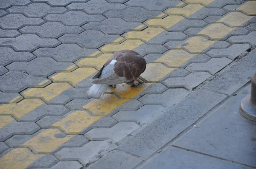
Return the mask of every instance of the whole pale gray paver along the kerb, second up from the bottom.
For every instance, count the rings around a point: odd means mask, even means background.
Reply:
[[[117,143],[139,127],[134,122],[121,122],[108,129],[92,129],[85,136],[90,140],[111,139],[112,143]]]

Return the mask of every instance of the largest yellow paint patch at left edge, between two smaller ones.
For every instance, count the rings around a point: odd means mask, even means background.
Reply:
[[[20,120],[23,115],[35,110],[42,104],[44,104],[44,101],[40,99],[24,99],[18,103],[3,104],[0,106],[0,115],[12,115]]]

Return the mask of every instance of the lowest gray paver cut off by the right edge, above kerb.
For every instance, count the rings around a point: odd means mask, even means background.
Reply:
[[[256,31],[250,32],[247,35],[232,36],[227,39],[230,43],[249,43],[250,45],[256,45]]]

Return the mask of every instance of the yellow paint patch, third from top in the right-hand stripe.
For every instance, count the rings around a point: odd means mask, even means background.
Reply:
[[[197,35],[205,35],[211,40],[220,40],[234,29],[234,27],[230,28],[222,23],[213,23],[200,31]]]

